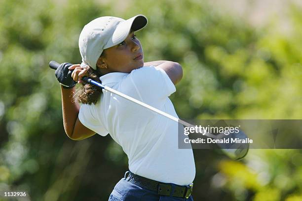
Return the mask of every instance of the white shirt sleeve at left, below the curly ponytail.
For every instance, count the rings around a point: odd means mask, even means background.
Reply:
[[[95,110],[94,105],[82,104],[78,113],[78,119],[90,130],[101,136],[107,136],[109,132],[106,130],[103,123],[97,118]]]

